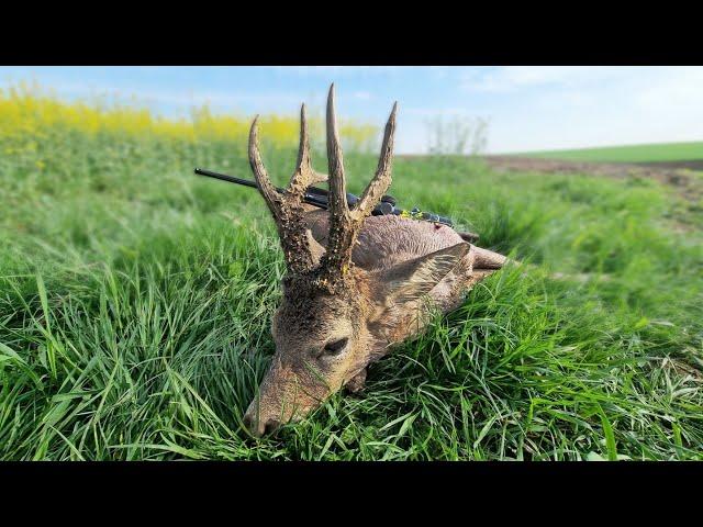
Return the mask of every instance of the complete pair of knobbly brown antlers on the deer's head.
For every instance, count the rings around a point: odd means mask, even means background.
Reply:
[[[395,131],[395,112],[398,103],[388,123],[381,146],[381,156],[376,169],[376,176],[368,184],[361,198],[349,209],[347,204],[346,178],[342,158],[342,145],[337,132],[334,106],[334,85],[330,87],[327,98],[327,162],[330,165],[330,236],[327,250],[324,249],[310,234],[304,221],[303,198],[308,188],[326,176],[312,168],[310,159],[310,139],[305,105],[300,111],[300,148],[298,164],[288,188],[281,193],[272,184],[261,161],[258,148],[258,116],[252,123],[249,133],[249,164],[266,201],[276,226],[278,227],[283,255],[291,273],[306,273],[316,269],[319,283],[333,290],[337,283],[344,281],[347,270],[352,266],[352,253],[357,240],[364,220],[371,213],[381,197],[391,184],[391,167],[393,161],[393,133]],[[317,262],[320,262],[317,267]]]

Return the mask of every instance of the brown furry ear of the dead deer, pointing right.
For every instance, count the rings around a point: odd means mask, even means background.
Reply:
[[[459,243],[381,271],[378,280],[386,302],[402,304],[428,293],[461,261],[470,247]]]

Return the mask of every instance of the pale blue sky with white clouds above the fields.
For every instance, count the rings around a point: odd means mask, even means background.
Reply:
[[[0,88],[32,81],[66,100],[133,98],[165,116],[322,111],[378,125],[399,103],[395,149],[423,153],[428,120],[488,121],[490,154],[703,141],[703,67],[261,66],[0,67]]]

